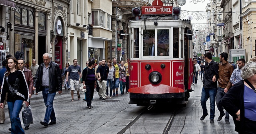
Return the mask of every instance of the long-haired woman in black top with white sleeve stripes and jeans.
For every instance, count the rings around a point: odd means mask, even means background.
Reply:
[[[11,120],[12,134],[24,134],[20,122],[20,110],[22,103],[29,105],[28,84],[24,73],[18,67],[18,61],[15,57],[10,57],[7,60],[6,73],[2,83],[0,107],[4,108],[3,102],[7,94],[7,104]]]

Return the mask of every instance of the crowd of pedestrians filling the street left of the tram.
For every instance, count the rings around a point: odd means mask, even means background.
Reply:
[[[95,61],[86,61],[86,67],[82,70],[78,65],[77,59],[73,60],[73,65],[65,64],[60,70],[57,63],[52,61],[49,53],[42,56],[43,63],[36,64],[36,59],[32,60],[30,69],[29,65],[23,58],[7,55],[2,62],[3,67],[0,69],[0,124],[5,122],[4,107],[8,104],[8,112],[10,115],[12,134],[24,134],[20,121],[20,111],[23,106],[30,105],[30,99],[36,91],[42,91],[42,97],[46,106],[44,120],[40,124],[48,127],[48,125],[56,124],[56,116],[53,107],[56,92],[62,93],[62,83],[64,81],[65,90],[70,90],[71,101],[74,101],[74,91],[77,92],[77,99],[80,100],[80,92],[84,91],[84,101],[87,108],[91,109],[94,89],[98,91],[99,99],[105,100],[118,96],[118,88],[120,85],[120,95],[128,93],[129,89],[129,72],[128,59],[126,63],[120,61],[117,64],[116,58],[106,61],[102,59],[97,65]],[[83,84],[80,87],[80,82]],[[82,88],[82,89],[81,89]],[[25,130],[29,129],[30,124],[25,126]]]

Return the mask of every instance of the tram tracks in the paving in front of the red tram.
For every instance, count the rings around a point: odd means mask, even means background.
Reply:
[[[162,134],[168,134],[171,126],[172,126],[172,122],[175,118],[175,115],[177,113],[179,108],[174,108],[170,111],[170,113],[172,113],[169,117],[168,122],[166,123],[166,126],[164,127],[164,130],[162,132]],[[144,114],[147,114],[149,110],[144,109],[138,116],[136,116],[136,118],[134,118],[129,124],[127,124],[122,130],[120,130],[117,134],[124,134],[128,129],[130,129],[135,123],[136,121],[138,121]],[[158,111],[159,112],[159,111]],[[158,114],[158,113],[156,113]],[[148,118],[148,117],[147,117]],[[159,130],[161,131],[161,130]]]

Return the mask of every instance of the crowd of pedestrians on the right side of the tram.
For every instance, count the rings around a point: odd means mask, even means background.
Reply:
[[[256,134],[256,57],[247,63],[238,59],[236,64],[228,62],[228,53],[221,53],[219,58],[220,63],[216,63],[208,52],[199,63],[193,59],[193,85],[197,83],[198,74],[203,82],[200,100],[203,115],[200,120],[208,116],[206,101],[210,99],[210,123],[214,123],[216,103],[220,112],[217,121],[225,116],[225,123],[230,124],[230,114],[239,134]]]

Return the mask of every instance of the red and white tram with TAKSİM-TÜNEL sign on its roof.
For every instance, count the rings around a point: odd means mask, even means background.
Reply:
[[[192,25],[190,20],[179,19],[179,7],[154,2],[142,7],[143,19],[136,16],[129,22],[129,104],[186,104],[194,67]],[[160,8],[165,12],[159,14]],[[140,15],[140,8],[136,10]]]

